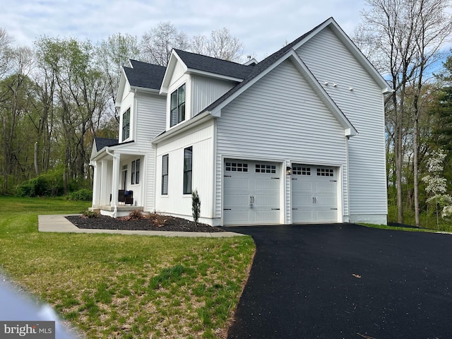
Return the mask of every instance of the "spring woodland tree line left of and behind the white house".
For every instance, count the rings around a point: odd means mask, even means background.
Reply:
[[[117,138],[114,101],[129,59],[166,66],[177,48],[239,61],[244,51],[226,28],[189,38],[169,22],[140,40],[117,33],[97,43],[59,37],[40,37],[31,47],[13,42],[0,28],[0,194],[15,194],[22,182],[45,175],[42,185],[57,187],[37,195],[90,188],[93,137]]]

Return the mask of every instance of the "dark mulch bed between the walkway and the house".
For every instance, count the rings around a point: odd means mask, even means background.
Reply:
[[[225,232],[219,227],[206,224],[195,226],[193,221],[174,218],[166,215],[143,215],[141,220],[129,218],[110,218],[107,215],[97,215],[97,218],[86,218],[83,215],[71,215],[67,220],[78,228],[97,230],[136,230],[136,231],[168,231],[168,232]]]

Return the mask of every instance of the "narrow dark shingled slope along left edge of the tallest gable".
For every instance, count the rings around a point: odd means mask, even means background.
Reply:
[[[327,20],[323,21],[323,23],[325,23],[328,20],[330,20],[330,18],[328,18]],[[256,78],[256,76],[258,76],[263,71],[268,69],[268,67],[270,67],[275,61],[278,61],[278,59],[280,59],[280,57],[283,57],[284,54],[286,54],[287,52],[290,52],[292,47],[294,47],[296,44],[298,44],[300,41],[302,41],[305,37],[307,37],[309,34],[311,34],[311,32],[313,32],[314,30],[319,28],[321,25],[323,25],[323,23],[321,23],[320,25],[317,25],[316,27],[314,27],[309,32],[307,32],[304,35],[302,35],[301,37],[297,38],[297,40],[294,40],[290,44],[287,44],[285,47],[283,47],[279,51],[271,54],[270,57],[267,57],[266,59],[263,59],[261,62],[256,64],[256,66],[251,66],[251,67],[248,66],[249,69],[251,70],[251,73],[249,73],[249,75],[244,79],[244,81],[242,81],[241,83],[239,83],[236,86],[234,86],[233,88],[231,88],[231,90],[229,90],[227,93],[225,93],[224,95],[219,97],[217,100],[215,100],[212,104],[208,105],[208,107],[203,109],[198,114],[201,114],[201,113],[207,112],[207,111],[211,111],[212,109],[214,109],[215,107],[220,105],[223,101],[227,100],[228,97],[230,97],[234,93],[236,93],[240,88],[242,88],[244,85],[246,85],[246,83],[249,83],[251,80]]]

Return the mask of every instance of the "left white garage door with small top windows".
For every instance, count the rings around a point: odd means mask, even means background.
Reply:
[[[223,223],[280,222],[280,165],[271,162],[225,160]]]

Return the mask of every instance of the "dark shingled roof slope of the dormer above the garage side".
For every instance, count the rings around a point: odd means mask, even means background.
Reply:
[[[244,79],[253,71],[253,66],[237,64],[237,62],[215,59],[205,55],[174,49],[189,69]]]

